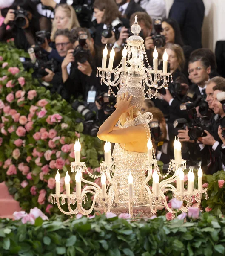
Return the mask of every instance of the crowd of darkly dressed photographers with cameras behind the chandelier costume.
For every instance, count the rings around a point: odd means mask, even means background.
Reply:
[[[40,86],[70,102],[84,117],[76,120],[83,122],[84,133],[96,136],[115,105],[96,67],[105,45],[108,52],[114,47],[117,67],[137,15],[145,64],[152,66],[157,47],[160,69],[166,48],[173,76],[168,90],[158,90],[142,108],[154,116],[150,127],[157,160],[169,163],[178,136],[188,165],[201,161],[205,173],[212,174],[225,169],[225,79],[216,71],[214,53],[199,48],[204,4],[191,2],[197,17],[188,17],[185,0],[174,0],[166,18],[164,0],[14,0],[1,9],[0,41],[14,38],[17,48],[28,51],[30,58],[21,58],[24,68],[33,68]],[[185,29],[191,26],[192,32]]]

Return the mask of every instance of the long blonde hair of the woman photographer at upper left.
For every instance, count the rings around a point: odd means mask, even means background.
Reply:
[[[73,28],[80,27],[80,23],[77,19],[76,12],[74,11],[74,8],[72,6],[69,6],[68,4],[59,4],[56,9],[55,13],[58,9],[62,9],[63,12],[66,13],[66,16],[70,19],[68,24],[68,29],[71,30]],[[52,30],[51,30],[51,41],[54,42],[54,34],[57,31],[57,26],[55,19],[52,22]]]

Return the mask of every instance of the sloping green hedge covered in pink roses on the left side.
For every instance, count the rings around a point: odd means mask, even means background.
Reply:
[[[57,207],[51,209],[49,195],[54,193],[57,169],[61,192],[65,189],[75,140],[82,143],[81,157],[90,172],[99,172],[102,143],[82,134],[83,124],[75,122],[80,114],[61,96],[40,87],[19,57],[26,53],[11,43],[0,44],[0,182],[6,181],[23,210],[58,212]]]

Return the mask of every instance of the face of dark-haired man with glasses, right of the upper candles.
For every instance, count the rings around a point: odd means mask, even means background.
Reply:
[[[205,69],[201,61],[195,61],[188,65],[188,73],[194,84],[202,84],[209,79],[210,67]]]

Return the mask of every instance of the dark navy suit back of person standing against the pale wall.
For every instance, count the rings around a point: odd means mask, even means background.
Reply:
[[[186,45],[202,48],[202,23],[205,6],[203,0],[174,0],[169,17],[177,20]]]

